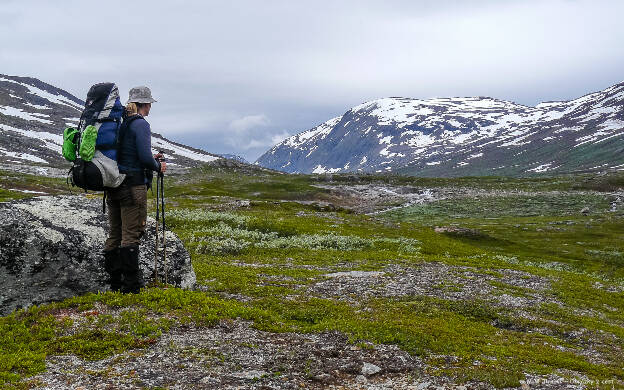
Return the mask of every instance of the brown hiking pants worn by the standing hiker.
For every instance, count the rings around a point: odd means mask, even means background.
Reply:
[[[106,192],[109,233],[105,251],[139,245],[147,221],[147,187],[121,185]]]

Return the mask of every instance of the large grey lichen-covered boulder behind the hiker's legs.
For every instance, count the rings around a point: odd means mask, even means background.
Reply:
[[[148,218],[140,267],[153,281],[156,221]],[[160,226],[162,227],[162,226]],[[106,291],[102,250],[108,220],[102,200],[46,196],[0,203],[0,315],[87,292]],[[161,232],[162,234],[162,232]],[[195,272],[180,239],[167,231],[167,278],[192,288]],[[164,265],[159,261],[159,279]]]

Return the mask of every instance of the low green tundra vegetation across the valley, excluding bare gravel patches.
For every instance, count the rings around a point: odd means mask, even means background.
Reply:
[[[62,180],[0,175],[2,201],[32,196],[19,189],[67,192]],[[6,177],[16,179],[9,186]],[[624,384],[620,174],[329,179],[207,165],[165,183],[168,227],[189,250],[199,288],[87,294],[2,317],[0,386],[28,388],[48,355],[101,359],[148,347],[172,327],[234,319],[396,344],[457,383],[519,386],[525,373],[557,373]],[[327,188],[368,184],[454,192],[364,214]],[[420,269],[437,276],[420,290],[397,287]],[[385,276],[343,296],[319,288],[351,271]],[[98,315],[102,306],[119,314]]]

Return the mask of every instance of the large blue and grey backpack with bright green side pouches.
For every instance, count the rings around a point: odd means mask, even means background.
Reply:
[[[68,179],[92,191],[116,188],[125,175],[117,167],[124,106],[114,83],[93,85],[87,93],[78,128],[63,132],[63,156],[73,162]]]

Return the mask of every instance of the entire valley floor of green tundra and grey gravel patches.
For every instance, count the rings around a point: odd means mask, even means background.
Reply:
[[[0,200],[64,191],[2,175]],[[2,317],[0,386],[624,388],[621,176],[210,165],[166,187],[197,288]]]

